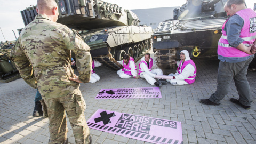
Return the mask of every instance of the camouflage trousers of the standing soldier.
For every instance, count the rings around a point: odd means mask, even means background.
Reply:
[[[76,143],[89,143],[89,127],[85,121],[84,110],[86,108],[84,98],[81,95],[71,94],[66,97],[45,99],[49,116],[49,143],[63,143],[67,139],[66,114],[73,129]]]

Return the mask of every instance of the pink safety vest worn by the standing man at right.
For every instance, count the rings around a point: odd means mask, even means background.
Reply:
[[[250,46],[253,44],[256,38],[256,26],[254,26],[256,25],[256,12],[251,9],[244,9],[236,12],[236,14],[244,20],[244,26],[240,33],[240,37],[244,40],[243,44],[245,46]],[[250,56],[250,54],[229,46],[226,31],[223,30],[228,20],[229,19],[227,19],[222,26],[222,36],[218,42],[218,55],[229,58],[241,58]],[[252,33],[250,33],[250,30]],[[254,32],[252,30],[254,30]]]

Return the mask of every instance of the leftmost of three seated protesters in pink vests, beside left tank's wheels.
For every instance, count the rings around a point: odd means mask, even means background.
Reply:
[[[130,57],[128,54],[123,55],[123,60],[118,61],[124,68],[117,71],[117,75],[121,78],[130,78],[136,77],[137,68],[134,62],[134,59]]]

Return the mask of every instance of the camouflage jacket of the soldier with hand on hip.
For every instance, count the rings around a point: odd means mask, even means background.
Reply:
[[[90,47],[65,25],[37,15],[21,31],[11,51],[11,59],[21,77],[31,87],[38,87],[42,97],[81,95],[79,83],[69,80],[74,77],[70,50],[76,55],[79,80],[89,82],[92,69]]]

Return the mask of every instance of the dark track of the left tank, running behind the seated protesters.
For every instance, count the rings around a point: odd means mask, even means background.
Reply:
[[[138,62],[142,57],[144,57],[144,55],[150,51],[152,47],[152,42],[150,42],[149,44],[149,49],[146,50],[145,52],[143,52],[142,54],[139,55],[139,57],[137,57],[136,59],[134,59],[134,62]],[[100,55],[98,57],[93,57],[94,59],[96,59],[97,61],[99,61],[100,63],[102,63],[103,65],[105,65],[106,67],[113,69],[113,70],[119,70],[122,69],[123,66],[120,65],[113,57],[112,54],[109,53],[107,55]]]

